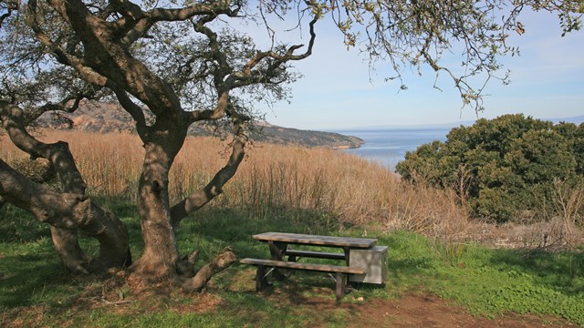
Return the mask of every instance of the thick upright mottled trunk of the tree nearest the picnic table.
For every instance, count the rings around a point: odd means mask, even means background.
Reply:
[[[147,128],[149,131],[143,135],[146,154],[139,183],[139,212],[144,252],[131,265],[130,271],[139,280],[160,281],[171,278],[184,290],[199,292],[214,274],[224,271],[235,262],[235,254],[224,251],[204,265],[194,277],[189,272],[193,271],[195,256],[188,261],[180,261],[172,225],[168,177],[172,161],[183,147],[187,129],[165,122],[168,121],[164,117],[158,119],[154,127]],[[222,186],[219,185],[217,190]]]

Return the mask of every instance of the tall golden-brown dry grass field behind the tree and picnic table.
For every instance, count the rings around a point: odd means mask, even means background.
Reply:
[[[45,131],[38,138],[69,143],[92,195],[135,200],[143,157],[137,136]],[[1,159],[24,157],[5,136],[0,144]],[[229,151],[218,138],[187,138],[171,171],[172,202],[202,188],[224,166]],[[235,178],[211,206],[254,216],[310,210],[339,228],[375,225],[430,234],[459,233],[468,222],[451,192],[414,188],[389,170],[340,151],[271,144],[248,148]]]

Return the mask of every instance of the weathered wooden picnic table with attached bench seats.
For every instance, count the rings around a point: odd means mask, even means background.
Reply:
[[[377,240],[365,238],[318,236],[298,233],[266,232],[253,236],[256,241],[266,242],[271,254],[271,260],[246,258],[240,262],[255,265],[255,290],[262,292],[270,285],[267,277],[273,273],[278,279],[286,279],[289,274],[278,271],[298,270],[308,272],[334,273],[336,280],[336,296],[341,299],[350,292],[348,285],[349,276],[352,274],[365,274],[366,268],[350,266],[350,251],[354,249],[369,249]],[[343,252],[328,251],[304,251],[290,250],[289,245],[322,246],[328,248],[339,248]],[[299,263],[301,258],[317,258],[328,260],[341,260],[346,265],[331,265],[321,263]],[[287,259],[287,260],[286,260]],[[270,270],[268,270],[270,269]]]

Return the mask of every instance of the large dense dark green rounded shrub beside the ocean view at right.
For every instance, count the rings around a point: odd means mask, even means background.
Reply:
[[[523,115],[479,119],[453,128],[445,142],[408,152],[396,170],[414,183],[453,188],[476,217],[546,219],[581,202],[583,141],[584,124]],[[572,206],[570,215],[580,207]]]

